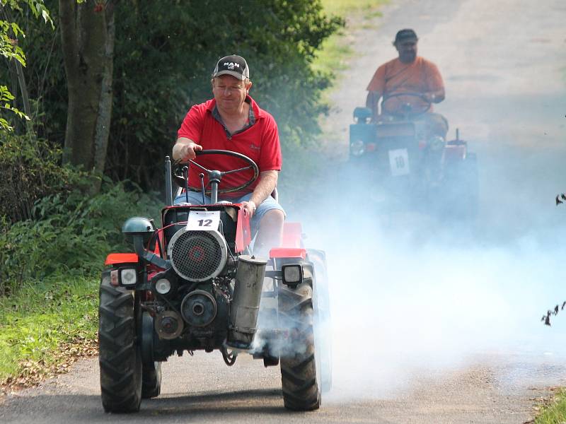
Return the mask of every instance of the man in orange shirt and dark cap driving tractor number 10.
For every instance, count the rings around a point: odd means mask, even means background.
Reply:
[[[432,112],[432,103],[444,100],[444,82],[432,61],[417,56],[418,40],[415,31],[410,29],[400,30],[395,35],[393,45],[399,57],[379,66],[374,73],[367,86],[366,106],[374,112],[376,121],[423,120],[427,122],[429,135],[446,138],[446,118]]]

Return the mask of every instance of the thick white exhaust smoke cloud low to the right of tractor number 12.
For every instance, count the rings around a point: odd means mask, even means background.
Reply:
[[[552,201],[531,205],[531,213],[566,218]],[[361,206],[322,208],[326,219],[304,228],[308,245],[328,257],[331,398],[393,396],[430,372],[497,355],[566,360],[565,320],[555,317],[552,328],[540,321],[566,300],[566,249],[558,241],[566,225],[525,228],[497,242],[482,230],[493,223],[444,228],[442,219],[398,216],[383,228],[383,217]],[[509,221],[502,225],[517,224]]]

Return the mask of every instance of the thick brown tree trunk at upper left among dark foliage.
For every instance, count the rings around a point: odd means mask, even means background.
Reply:
[[[97,175],[104,172],[112,112],[114,7],[115,1],[59,0],[69,94],[64,162]]]

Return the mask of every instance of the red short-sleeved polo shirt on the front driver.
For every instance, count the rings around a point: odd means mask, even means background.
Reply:
[[[246,97],[246,101],[252,107],[255,122],[250,122],[251,125],[243,131],[231,135],[226,132],[224,126],[213,115],[216,100],[212,99],[190,108],[187,116],[183,119],[183,124],[177,131],[177,136],[191,139],[200,144],[203,150],[221,149],[242,153],[258,164],[260,172],[279,171],[281,170],[282,158],[275,119],[265,110],[260,109],[249,95]],[[246,166],[243,160],[226,155],[197,156],[195,162],[209,170],[219,171],[235,170]],[[189,181],[192,187],[200,187],[200,178],[198,177],[200,172],[202,171],[195,165],[190,166]],[[219,188],[236,187],[252,176],[252,170],[225,175],[222,177]],[[204,183],[208,183],[206,178]],[[243,196],[253,192],[257,184],[258,181],[256,180],[243,192],[230,193],[228,196]]]

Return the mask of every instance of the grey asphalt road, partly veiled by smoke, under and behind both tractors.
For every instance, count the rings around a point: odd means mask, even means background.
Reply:
[[[357,53],[326,125],[335,157],[347,157],[351,112],[376,66],[395,57],[395,32],[415,28],[445,79],[437,111],[478,153],[480,219],[384,224],[340,207],[323,185],[304,211],[289,211],[306,218],[308,244],[328,251],[334,386],[320,410],[285,411],[277,367],[243,357],[229,368],[196,353],[163,365],[161,396],[138,414],[103,413],[88,359],[8,396],[1,422],[524,423],[548,387],[565,383],[566,324],[560,314],[551,328],[538,320],[566,298],[566,208],[553,204],[566,191],[566,4],[393,3],[349,35]]]

